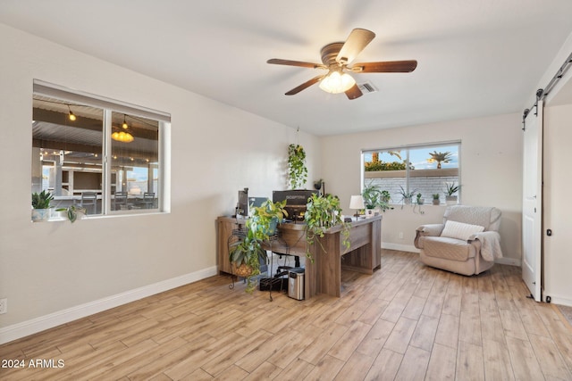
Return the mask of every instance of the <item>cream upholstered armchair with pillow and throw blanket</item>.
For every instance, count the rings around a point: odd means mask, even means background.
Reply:
[[[454,205],[443,215],[442,224],[416,229],[415,247],[427,266],[463,275],[491,269],[501,258],[501,211],[493,207]]]

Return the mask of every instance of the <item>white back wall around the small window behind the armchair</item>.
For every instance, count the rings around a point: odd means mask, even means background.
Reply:
[[[360,151],[461,140],[462,203],[496,206],[502,211],[500,262],[520,264],[522,198],[522,131],[518,114],[455,120],[408,128],[324,137],[322,161],[326,190],[341,197],[360,190]],[[382,222],[383,246],[414,251],[417,226],[441,222],[444,206],[424,205],[425,214],[411,206],[386,211]],[[346,213],[351,211],[347,210]],[[400,233],[403,238],[400,238]]]

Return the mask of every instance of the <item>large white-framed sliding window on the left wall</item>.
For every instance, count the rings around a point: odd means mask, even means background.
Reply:
[[[88,215],[164,211],[168,114],[36,80],[32,103],[32,193]]]

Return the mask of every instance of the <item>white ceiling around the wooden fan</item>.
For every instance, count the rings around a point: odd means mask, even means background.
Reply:
[[[570,0],[2,0],[0,22],[315,135],[522,112],[572,32]],[[356,74],[349,101],[317,85],[320,48],[377,37],[357,61],[418,61]],[[321,72],[321,71],[320,71]]]

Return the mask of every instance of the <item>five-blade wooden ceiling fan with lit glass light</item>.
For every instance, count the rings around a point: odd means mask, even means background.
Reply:
[[[364,48],[375,37],[375,33],[367,29],[353,29],[349,33],[346,42],[334,42],[322,48],[323,63],[299,62],[273,58],[266,61],[277,65],[299,66],[302,68],[328,70],[327,73],[314,77],[298,87],[292,88],[285,95],[295,95],[307,87],[320,82],[320,88],[332,94],[345,93],[349,99],[356,99],[362,95],[357,87],[356,80],[349,75],[353,73],[407,73],[415,70],[417,62],[409,61],[385,61],[385,62],[359,62],[353,63]],[[351,66],[350,66],[351,64]]]

